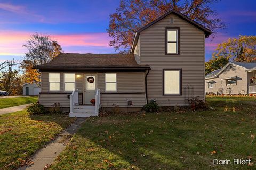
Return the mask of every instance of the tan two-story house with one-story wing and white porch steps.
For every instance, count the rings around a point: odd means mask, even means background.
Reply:
[[[59,102],[70,116],[98,115],[100,107],[129,112],[154,99],[186,106],[205,98],[205,38],[211,30],[171,10],[135,33],[130,54],[59,54],[35,66],[39,103]]]

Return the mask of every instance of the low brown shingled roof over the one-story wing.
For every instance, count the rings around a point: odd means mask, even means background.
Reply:
[[[134,54],[78,54],[61,53],[49,63],[37,65],[41,70],[109,70],[109,69],[150,69],[149,65],[139,65]]]

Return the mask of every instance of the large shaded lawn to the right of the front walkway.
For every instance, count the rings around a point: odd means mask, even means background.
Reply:
[[[255,168],[256,98],[207,101],[217,110],[91,117],[50,169]],[[213,165],[249,156],[253,166]]]

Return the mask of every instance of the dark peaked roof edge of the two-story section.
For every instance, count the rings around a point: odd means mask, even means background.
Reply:
[[[144,27],[142,27],[141,29],[139,29],[138,31],[135,32],[135,36],[134,36],[133,43],[132,43],[132,48],[131,48],[131,53],[134,52],[135,46],[138,43],[140,32],[142,32],[143,30],[146,30],[148,27],[150,27],[151,25],[157,23],[158,21],[161,21],[163,18],[165,18],[166,16],[170,15],[171,13],[179,16],[181,19],[187,21],[188,23],[194,25],[198,29],[201,29],[202,31],[204,31],[204,33],[206,35],[206,38],[209,37],[212,34],[212,31],[210,29],[205,28],[203,25],[201,25],[201,24],[197,23],[196,21],[191,20],[190,18],[188,18],[188,16],[186,16],[186,15],[180,13],[179,11],[173,9],[173,10],[171,10],[169,12],[166,12],[165,14],[163,14],[162,16],[157,18],[156,20],[150,22],[149,24],[145,25]]]

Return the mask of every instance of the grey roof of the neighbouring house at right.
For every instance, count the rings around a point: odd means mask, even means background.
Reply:
[[[241,66],[245,69],[245,71],[249,71],[250,69],[256,69],[256,63],[245,63],[245,62],[228,62],[222,69],[217,69],[212,71],[211,73],[205,75],[205,79],[212,79],[218,77],[230,64]]]

